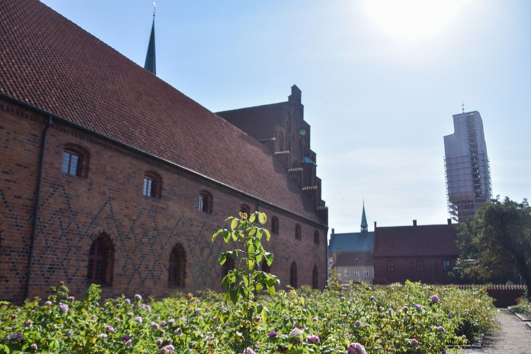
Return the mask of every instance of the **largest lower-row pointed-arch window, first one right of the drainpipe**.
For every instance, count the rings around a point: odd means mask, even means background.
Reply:
[[[114,252],[110,238],[102,234],[90,245],[87,281],[98,284],[112,282],[113,261]]]

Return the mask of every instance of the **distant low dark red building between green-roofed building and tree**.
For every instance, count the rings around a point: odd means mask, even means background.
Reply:
[[[448,272],[460,253],[451,219],[445,225],[417,226],[413,220],[413,226],[375,226],[374,282],[449,284]]]

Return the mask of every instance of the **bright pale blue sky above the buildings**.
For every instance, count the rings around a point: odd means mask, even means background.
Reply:
[[[143,66],[152,1],[44,0]],[[157,76],[211,111],[302,90],[329,227],[446,223],[443,135],[479,111],[493,194],[531,197],[531,2],[157,1]]]

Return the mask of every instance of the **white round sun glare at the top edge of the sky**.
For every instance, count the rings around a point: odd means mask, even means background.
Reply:
[[[375,27],[404,41],[431,39],[464,10],[467,0],[363,0],[365,14]]]

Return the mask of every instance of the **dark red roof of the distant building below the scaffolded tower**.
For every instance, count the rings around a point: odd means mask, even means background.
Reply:
[[[457,231],[453,225],[377,227],[375,257],[459,255]]]

